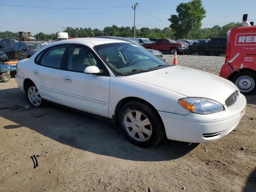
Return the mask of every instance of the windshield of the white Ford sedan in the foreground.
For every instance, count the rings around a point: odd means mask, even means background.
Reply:
[[[121,76],[171,66],[147,50],[130,43],[102,44],[94,48],[108,66]]]

